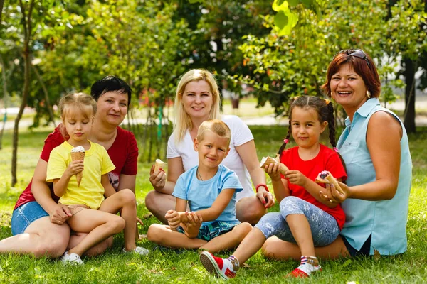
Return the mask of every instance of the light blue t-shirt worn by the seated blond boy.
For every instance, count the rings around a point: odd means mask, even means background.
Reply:
[[[176,180],[172,195],[182,200],[188,200],[191,211],[208,209],[214,204],[221,190],[236,190],[226,209],[219,215],[218,219],[203,224],[211,224],[214,221],[230,222],[239,224],[236,218],[236,192],[241,192],[243,187],[236,173],[224,165],[218,166],[214,178],[209,180],[198,180],[196,177],[197,166],[187,170]]]

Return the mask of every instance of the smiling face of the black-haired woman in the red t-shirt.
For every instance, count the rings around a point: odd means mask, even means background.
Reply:
[[[106,92],[97,100],[95,119],[110,126],[119,126],[127,114],[127,93]]]

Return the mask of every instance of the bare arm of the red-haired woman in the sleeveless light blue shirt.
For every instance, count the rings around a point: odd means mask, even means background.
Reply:
[[[367,147],[374,164],[376,180],[364,185],[347,187],[340,183],[345,194],[332,190],[339,202],[347,198],[361,200],[390,200],[399,183],[401,161],[401,124],[391,114],[377,111],[371,116],[367,131]],[[332,187],[333,188],[333,187]]]

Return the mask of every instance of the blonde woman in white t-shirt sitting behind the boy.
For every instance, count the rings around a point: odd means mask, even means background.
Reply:
[[[273,206],[273,196],[265,185],[265,174],[259,167],[251,130],[238,116],[220,114],[220,93],[214,75],[199,69],[186,72],[176,89],[175,109],[176,124],[167,147],[167,174],[163,170],[154,171],[152,167],[149,180],[154,190],[145,197],[147,209],[167,224],[164,215],[175,207],[176,198],[172,192],[176,180],[198,164],[193,141],[199,126],[208,119],[221,119],[231,129],[230,153],[221,164],[233,170],[243,186],[243,191],[237,195],[237,218],[256,224],[267,208]]]

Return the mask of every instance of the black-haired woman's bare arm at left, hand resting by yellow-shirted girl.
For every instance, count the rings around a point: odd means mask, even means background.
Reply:
[[[47,169],[48,163],[46,160],[39,159],[31,182],[31,193],[38,204],[49,214],[51,222],[63,224],[72,214],[67,206],[58,204],[52,199],[51,190],[46,182]]]

